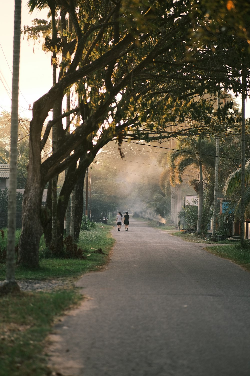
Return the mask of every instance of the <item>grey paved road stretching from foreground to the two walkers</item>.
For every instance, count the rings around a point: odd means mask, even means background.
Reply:
[[[89,297],[55,326],[50,364],[73,376],[249,376],[250,273],[147,224],[115,228]]]

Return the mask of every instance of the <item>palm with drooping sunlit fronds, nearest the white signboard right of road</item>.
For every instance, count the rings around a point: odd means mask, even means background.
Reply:
[[[171,184],[182,183],[182,177],[190,166],[195,166],[199,170],[199,182],[195,184],[195,190],[198,192],[198,219],[197,233],[201,234],[202,223],[202,203],[204,193],[204,178],[206,173],[209,175],[211,168],[214,168],[215,144],[208,138],[183,137],[177,144],[177,149],[169,154],[171,167]]]

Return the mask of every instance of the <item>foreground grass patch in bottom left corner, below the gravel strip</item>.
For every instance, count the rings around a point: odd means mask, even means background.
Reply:
[[[44,340],[55,317],[82,299],[74,290],[1,297],[0,376],[45,376]]]

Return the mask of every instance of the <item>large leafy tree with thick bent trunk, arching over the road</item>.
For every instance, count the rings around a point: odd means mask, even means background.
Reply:
[[[32,3],[39,7],[46,2]],[[20,262],[30,267],[38,266],[39,239],[49,220],[49,213],[42,212],[40,205],[49,179],[69,167],[57,206],[61,229],[69,195],[102,146],[114,137],[119,146],[128,135],[149,140],[196,134],[211,123],[212,107],[205,99],[192,98],[208,89],[215,92],[217,83],[224,82],[228,73],[221,61],[220,65],[211,65],[213,46],[190,47],[190,29],[199,27],[191,15],[200,13],[188,0],[177,1],[174,6],[167,1],[138,4],[133,0],[77,4],[57,0],[55,5],[61,15],[58,43],[55,46],[52,39],[46,39],[46,43],[50,50],[60,51],[60,71],[57,83],[34,103],[30,123],[19,243]],[[72,33],[66,27],[68,17]],[[70,112],[72,117],[81,113],[80,123],[70,133],[62,122],[69,112],[58,114],[41,136],[48,112],[55,103],[60,107],[72,85],[80,102]],[[52,127],[57,148],[42,162],[40,151]],[[58,234],[60,245],[62,231]]]

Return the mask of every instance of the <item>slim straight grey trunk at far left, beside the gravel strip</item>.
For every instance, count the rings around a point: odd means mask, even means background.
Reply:
[[[14,36],[13,36],[13,77],[10,130],[10,184],[8,202],[8,232],[6,282],[18,286],[15,282],[15,231],[16,231],[16,179],[17,179],[17,138],[18,138],[18,90],[21,36],[21,0],[15,0]]]

